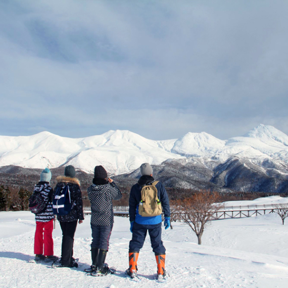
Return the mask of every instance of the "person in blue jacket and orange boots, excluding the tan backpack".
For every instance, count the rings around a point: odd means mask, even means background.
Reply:
[[[161,240],[162,215],[143,217],[138,213],[142,187],[150,185],[155,181],[153,178],[153,169],[149,163],[143,163],[140,166],[140,173],[141,177],[138,182],[132,186],[129,197],[129,219],[132,239],[129,243],[129,268],[126,270],[126,274],[131,278],[137,277],[137,259],[148,231],[151,239],[151,246],[157,261],[157,278],[161,280],[165,279],[166,276],[166,249]],[[167,191],[164,185],[159,181],[155,186],[165,217],[164,226],[165,229],[168,229],[170,227],[170,206]]]

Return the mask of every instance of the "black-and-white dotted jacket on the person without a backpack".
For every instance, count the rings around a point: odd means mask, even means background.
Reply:
[[[91,202],[91,224],[108,226],[114,223],[112,200],[120,200],[121,191],[115,182],[92,184],[87,189]]]

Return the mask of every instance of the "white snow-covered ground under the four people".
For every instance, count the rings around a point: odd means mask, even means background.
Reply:
[[[258,200],[271,203],[275,198]],[[241,205],[241,202],[239,202]],[[30,212],[0,212],[0,286],[1,287],[288,287],[288,220],[281,224],[278,215],[213,221],[205,230],[202,243],[183,223],[163,229],[167,249],[166,283],[153,280],[156,261],[150,238],[138,260],[136,283],[124,277],[128,267],[128,244],[131,238],[128,218],[115,217],[107,262],[117,273],[106,277],[86,276],[90,265],[90,216],[78,225],[74,256],[81,267],[53,269],[47,263],[29,263],[33,258],[34,215]],[[53,232],[55,254],[61,251],[59,223]]]

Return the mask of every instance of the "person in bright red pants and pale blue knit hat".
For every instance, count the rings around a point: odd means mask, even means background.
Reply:
[[[54,244],[52,238],[54,214],[52,209],[53,188],[50,186],[51,171],[46,168],[41,172],[40,182],[35,185],[34,191],[40,191],[45,202],[46,208],[42,213],[35,214],[36,231],[34,238],[35,260],[51,259],[56,260],[54,256]],[[44,247],[44,248],[43,248]]]

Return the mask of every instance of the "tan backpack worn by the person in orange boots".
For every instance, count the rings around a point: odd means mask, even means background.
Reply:
[[[159,181],[154,181],[151,185],[145,185],[141,189],[141,201],[138,212],[143,217],[158,216],[162,213],[161,202],[158,199],[157,188]]]

